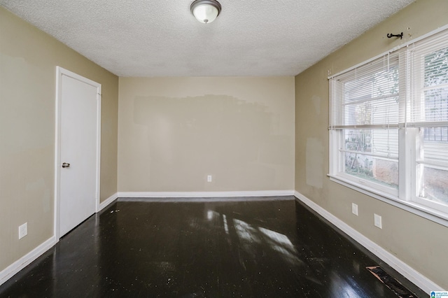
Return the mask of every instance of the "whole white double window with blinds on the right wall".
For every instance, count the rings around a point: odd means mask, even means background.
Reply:
[[[329,176],[448,219],[448,30],[329,79]]]

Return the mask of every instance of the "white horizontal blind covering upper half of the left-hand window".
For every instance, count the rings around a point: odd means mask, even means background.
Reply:
[[[330,78],[330,129],[398,128],[398,53]]]

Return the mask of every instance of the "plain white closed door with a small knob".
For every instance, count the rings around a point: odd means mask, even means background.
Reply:
[[[61,68],[58,79],[61,237],[97,210],[101,85]]]

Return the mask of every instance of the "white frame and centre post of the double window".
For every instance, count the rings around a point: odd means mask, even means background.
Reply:
[[[384,190],[383,185],[380,185],[379,183],[374,183],[372,181],[367,181],[363,178],[357,178],[356,176],[351,176],[347,173],[344,173],[342,166],[344,166],[344,129],[334,129],[332,127],[332,115],[334,108],[332,106],[332,101],[330,100],[330,123],[329,123],[329,173],[328,177],[331,181],[339,183],[341,185],[344,185],[346,187],[349,187],[353,190],[356,190],[358,192],[362,192],[364,194],[369,195],[370,197],[374,197],[376,199],[379,199],[380,201],[384,201],[388,204],[391,204],[393,206],[397,206],[399,208],[402,208],[406,211],[409,211],[411,213],[414,213],[416,215],[420,215],[423,218],[427,218],[429,220],[433,220],[435,222],[440,223],[441,225],[448,227],[448,204],[440,204],[436,201],[428,201],[428,199],[423,199],[418,196],[419,189],[417,188],[417,183],[419,182],[417,177],[417,165],[421,164],[419,160],[416,158],[419,155],[419,142],[423,142],[424,134],[423,132],[420,133],[420,129],[424,129],[423,127],[419,127],[418,125],[416,127],[407,127],[406,126],[406,120],[404,121],[404,124],[402,123],[402,104],[407,105],[409,100],[409,94],[410,88],[412,84],[414,84],[415,80],[412,81],[412,83],[409,83],[409,73],[407,73],[407,67],[402,67],[403,64],[407,64],[407,50],[409,45],[412,45],[418,41],[421,41],[425,38],[428,38],[430,36],[433,36],[437,33],[440,33],[442,31],[445,31],[448,29],[448,24],[444,27],[440,27],[439,29],[436,29],[434,31],[429,32],[428,34],[425,34],[421,36],[420,38],[416,38],[413,41],[410,41],[408,43],[405,43],[404,45],[401,45],[400,47],[393,48],[392,50],[389,50],[387,52],[382,53],[381,55],[377,55],[376,57],[372,57],[371,59],[362,62],[360,64],[357,64],[355,66],[352,66],[349,69],[346,69],[345,71],[341,71],[339,73],[336,73],[335,75],[329,76],[329,91],[330,91],[330,99],[333,96],[333,82],[332,79],[340,77],[344,78],[344,73],[348,73],[349,71],[353,71],[354,69],[358,69],[361,66],[365,66],[369,64],[370,62],[373,62],[374,60],[377,60],[381,57],[384,57],[385,55],[389,55],[390,53],[398,52],[398,64],[399,64],[399,113],[400,113],[400,120],[398,125],[398,190],[396,192],[388,191],[387,189]],[[448,30],[444,34],[448,35]],[[430,46],[432,48],[432,46]],[[428,48],[428,52],[430,52],[430,48]],[[401,50],[401,52],[399,52]],[[422,56],[423,57],[423,56]],[[424,58],[421,59],[424,63]],[[424,77],[424,71],[421,71],[418,73],[421,78],[419,81],[421,84],[423,84],[423,77]],[[424,101],[424,89],[420,88],[421,91],[418,96],[421,98],[421,100]],[[340,113],[337,114],[339,117],[343,117],[343,115],[340,115]],[[404,117],[407,117],[406,113],[403,115]],[[435,126],[437,127],[437,125]],[[351,128],[349,128],[351,129]],[[419,136],[420,134],[420,136]],[[342,150],[341,150],[342,149]],[[424,164],[421,164],[421,166],[424,166]],[[444,168],[445,169],[445,168]],[[448,168],[446,168],[448,170]]]

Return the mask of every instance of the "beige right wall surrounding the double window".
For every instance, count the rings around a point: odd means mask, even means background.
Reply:
[[[448,23],[448,1],[420,0],[295,78],[295,190],[448,289],[448,227],[333,183],[328,173],[328,74]],[[386,34],[404,32],[402,40]],[[311,166],[312,165],[312,166]],[[351,214],[358,204],[359,216]],[[382,215],[383,229],[373,225]]]

